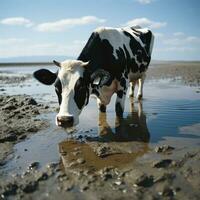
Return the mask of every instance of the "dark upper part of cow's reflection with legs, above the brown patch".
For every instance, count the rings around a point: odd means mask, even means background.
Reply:
[[[130,99],[130,113],[126,118],[116,116],[115,130],[107,123],[106,113],[99,113],[99,137],[90,138],[102,142],[116,141],[141,141],[149,142],[150,134],[146,124],[146,116],[142,110],[142,102],[138,102],[138,109],[135,109],[133,99]]]

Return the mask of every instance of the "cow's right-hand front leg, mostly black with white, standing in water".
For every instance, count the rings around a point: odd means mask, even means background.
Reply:
[[[127,89],[117,91],[117,99],[115,103],[115,112],[118,117],[123,117],[124,105],[126,99]]]

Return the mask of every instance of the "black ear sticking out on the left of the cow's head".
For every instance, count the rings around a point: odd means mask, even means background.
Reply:
[[[47,69],[40,69],[38,71],[35,71],[33,73],[33,76],[41,83],[45,84],[45,85],[52,85],[56,78],[57,78],[57,74],[53,73]]]

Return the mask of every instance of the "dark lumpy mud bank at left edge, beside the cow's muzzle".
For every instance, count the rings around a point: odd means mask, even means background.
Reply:
[[[14,144],[48,126],[48,122],[36,118],[48,109],[48,106],[37,103],[28,95],[0,95],[1,166]]]

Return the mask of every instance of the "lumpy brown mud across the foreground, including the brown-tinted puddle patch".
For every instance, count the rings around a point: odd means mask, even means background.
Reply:
[[[1,197],[199,199],[199,149],[186,153],[161,145],[151,151],[151,158],[155,159],[139,161],[135,156],[137,148],[122,150],[119,144],[106,149],[105,144],[95,147],[88,142],[67,140],[59,144],[59,149],[59,164],[48,164],[39,170],[40,163],[33,162],[23,174],[0,185]],[[99,154],[100,149],[107,152],[106,156]]]

